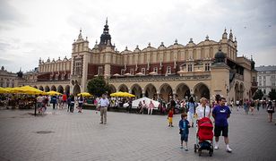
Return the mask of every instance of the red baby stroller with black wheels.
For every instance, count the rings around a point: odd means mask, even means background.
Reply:
[[[209,156],[211,157],[213,153],[213,126],[210,118],[203,117],[202,119],[198,120],[197,126],[198,131],[195,137],[196,144],[194,144],[194,153],[198,151],[198,155],[201,156],[202,150],[206,149],[209,150]]]

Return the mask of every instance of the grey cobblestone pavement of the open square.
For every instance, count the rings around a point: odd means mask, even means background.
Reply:
[[[233,111],[229,142],[233,152],[220,149],[194,154],[195,128],[188,148],[180,148],[177,123],[169,128],[166,115],[108,112],[108,124],[99,124],[99,113],[83,110],[47,110],[44,116],[30,110],[0,110],[0,160],[276,160],[276,126],[261,109],[254,115]],[[274,117],[276,115],[274,114]],[[274,120],[275,121],[275,120]]]

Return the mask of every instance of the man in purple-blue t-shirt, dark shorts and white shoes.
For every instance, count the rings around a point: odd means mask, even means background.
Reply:
[[[215,106],[212,110],[212,116],[215,119],[215,149],[219,148],[219,139],[222,131],[222,136],[224,136],[224,142],[226,144],[226,151],[232,152],[229,148],[229,123],[227,119],[230,117],[231,111],[228,106],[225,106],[225,97],[220,97],[219,105]]]

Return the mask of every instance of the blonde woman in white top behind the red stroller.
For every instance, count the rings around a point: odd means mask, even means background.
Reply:
[[[195,115],[197,120],[202,119],[203,117],[209,117],[211,116],[211,108],[210,106],[207,106],[207,99],[205,97],[202,97],[200,99],[200,106],[197,106],[195,109]]]

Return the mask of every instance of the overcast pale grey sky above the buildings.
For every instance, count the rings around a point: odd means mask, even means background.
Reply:
[[[238,55],[256,66],[276,64],[276,1],[273,0],[0,0],[0,65],[33,70],[39,57],[71,57],[79,30],[93,47],[108,17],[112,43],[142,49],[219,41],[226,28],[237,37]]]

